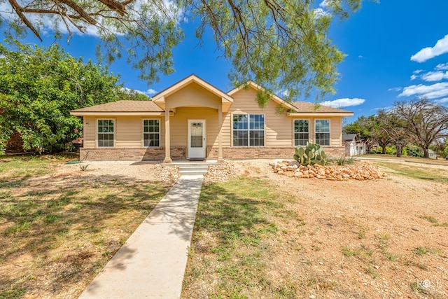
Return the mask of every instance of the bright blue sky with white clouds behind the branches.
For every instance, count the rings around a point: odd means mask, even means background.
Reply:
[[[325,4],[316,1],[316,8],[325,11]],[[426,96],[448,105],[447,11],[446,0],[363,1],[360,11],[348,20],[335,19],[329,36],[346,57],[338,66],[340,81],[335,85],[336,94],[327,95],[323,104],[353,111],[355,115],[348,123],[387,109],[397,100]],[[186,39],[174,49],[176,72],[160,76],[158,83],[148,86],[138,78],[139,71],[131,69],[125,60],[114,62],[110,70],[120,74],[125,87],[148,95],[190,74],[221,90],[230,90],[230,64],[216,51],[210,33],[204,38],[204,46],[198,46],[195,26],[193,22],[182,24]],[[44,39],[43,45],[52,41],[51,36]],[[28,41],[40,44],[31,35]],[[92,36],[73,36],[69,45],[62,40],[61,46],[73,56],[96,61],[95,43]]]

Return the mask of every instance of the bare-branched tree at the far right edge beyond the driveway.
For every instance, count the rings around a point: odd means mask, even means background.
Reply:
[[[407,123],[412,141],[423,149],[423,157],[429,158],[429,146],[448,130],[448,109],[430,102],[426,97],[409,102],[395,102],[393,111]]]

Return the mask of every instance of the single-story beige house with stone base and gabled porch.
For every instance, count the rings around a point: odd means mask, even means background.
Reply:
[[[152,101],[118,101],[71,111],[83,117],[87,160],[292,158],[297,145],[344,154],[342,118],[350,111],[273,95],[265,108],[253,82],[223,92],[191,75]]]

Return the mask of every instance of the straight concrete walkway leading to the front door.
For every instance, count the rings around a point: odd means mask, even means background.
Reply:
[[[202,176],[181,176],[79,298],[180,298]]]

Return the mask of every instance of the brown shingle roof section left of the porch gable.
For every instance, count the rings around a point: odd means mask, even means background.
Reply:
[[[163,110],[151,101],[117,101],[100,104],[72,112],[163,112]]]

